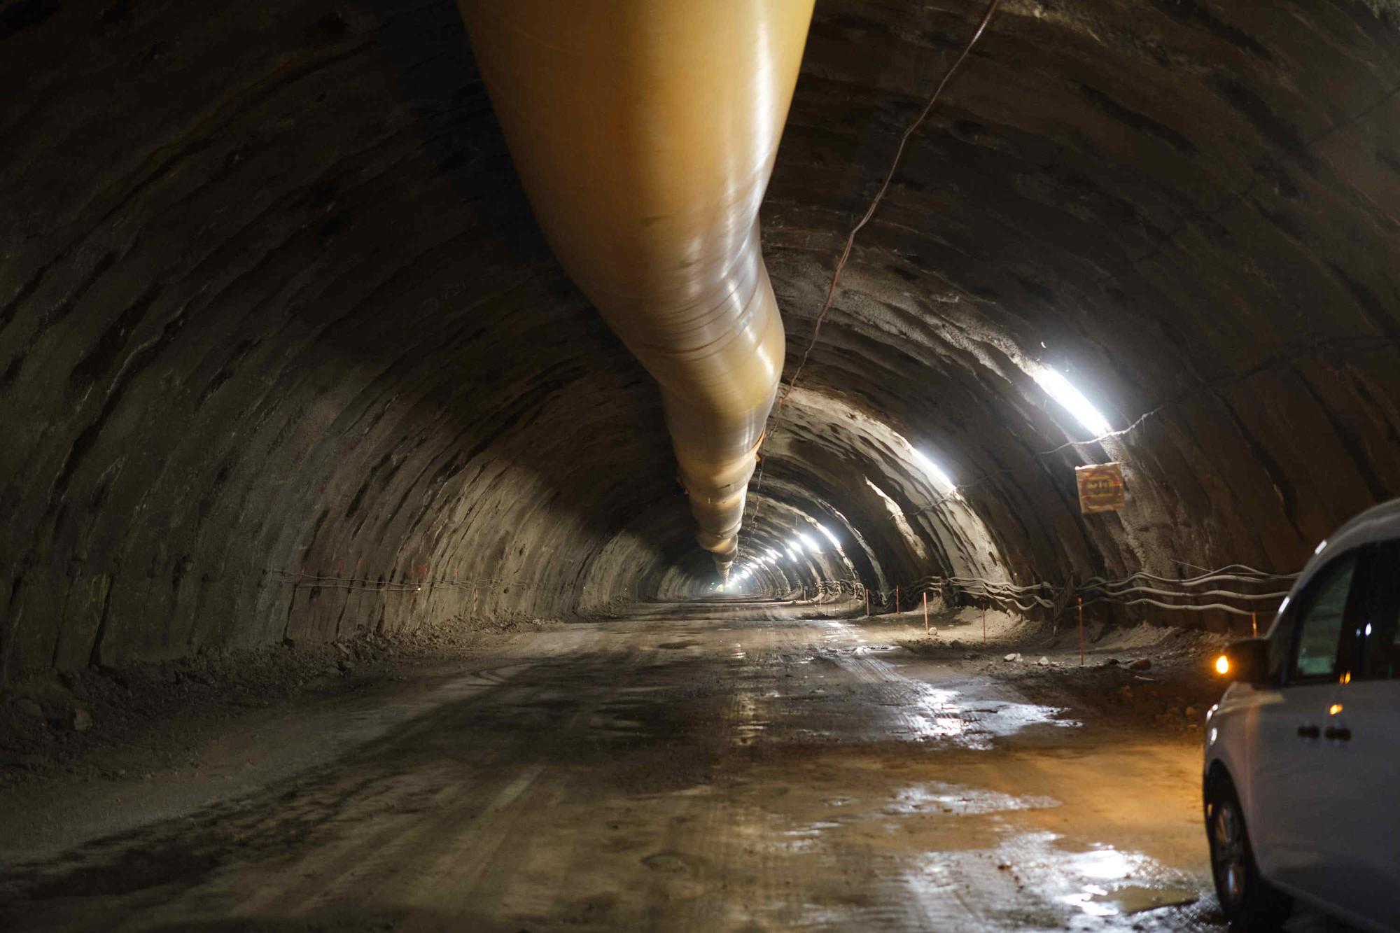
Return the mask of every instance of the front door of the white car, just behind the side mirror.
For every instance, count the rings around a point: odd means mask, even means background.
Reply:
[[[1330,825],[1340,803],[1329,787],[1323,738],[1343,667],[1343,633],[1355,614],[1359,552],[1317,569],[1285,609],[1280,688],[1260,703],[1250,755],[1249,831],[1264,877],[1331,899],[1340,841]]]

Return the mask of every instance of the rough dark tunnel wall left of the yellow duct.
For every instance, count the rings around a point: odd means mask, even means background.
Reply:
[[[573,611],[665,431],[455,10],[24,6],[6,671]]]

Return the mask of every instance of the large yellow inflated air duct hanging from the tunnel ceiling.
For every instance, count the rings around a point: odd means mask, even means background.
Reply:
[[[721,574],[783,373],[759,252],[813,0],[461,0],[554,254],[661,384]]]

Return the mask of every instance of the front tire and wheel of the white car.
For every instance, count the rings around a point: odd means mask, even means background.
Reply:
[[[1221,912],[1240,930],[1277,930],[1294,911],[1294,899],[1264,881],[1245,827],[1235,785],[1224,775],[1205,794],[1205,838],[1211,846],[1211,876]]]

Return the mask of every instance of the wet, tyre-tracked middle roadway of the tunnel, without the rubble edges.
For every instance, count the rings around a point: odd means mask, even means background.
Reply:
[[[0,927],[1218,927],[1193,744],[798,615],[517,640],[291,779],[8,866]]]

